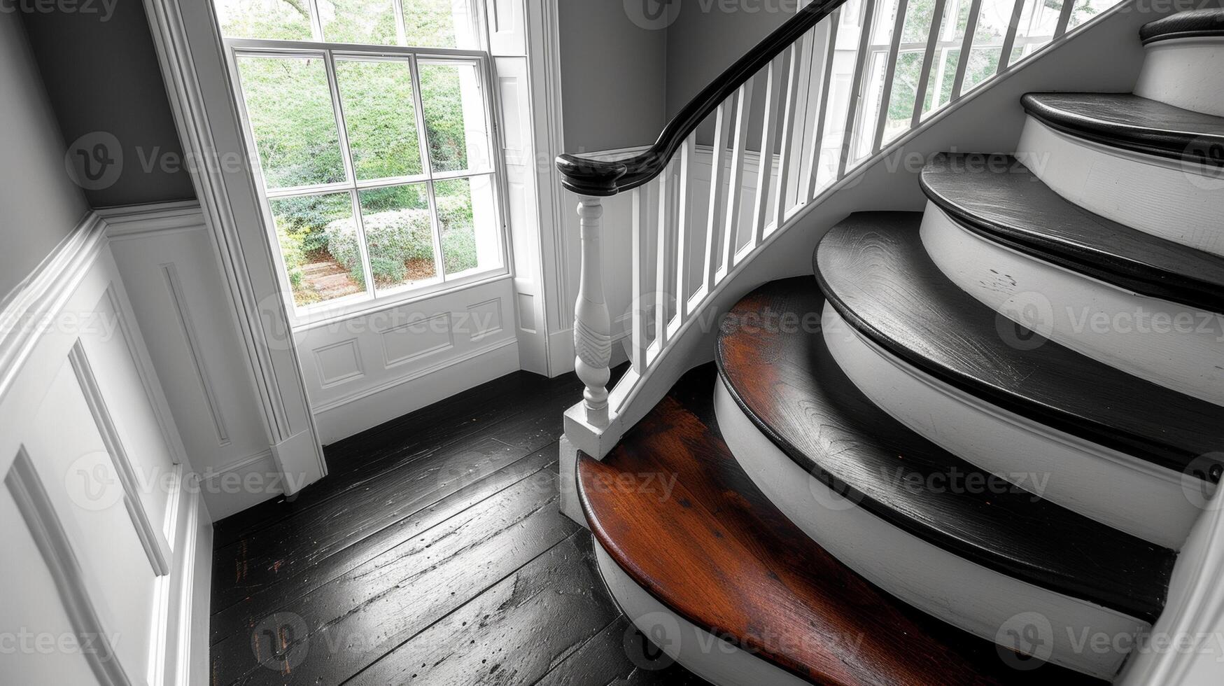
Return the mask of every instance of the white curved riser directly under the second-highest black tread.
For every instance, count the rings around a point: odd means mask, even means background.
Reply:
[[[1016,157],[1080,207],[1127,227],[1224,255],[1224,176],[1055,131],[1029,116]]]

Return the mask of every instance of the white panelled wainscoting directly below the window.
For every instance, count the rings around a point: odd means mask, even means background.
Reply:
[[[519,369],[514,282],[501,277],[294,331],[330,443]]]

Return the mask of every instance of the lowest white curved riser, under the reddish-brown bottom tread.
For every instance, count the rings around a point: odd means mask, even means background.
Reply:
[[[732,646],[670,610],[612,560],[599,539],[595,561],[612,598],[634,625],[693,674],[717,686],[803,686],[808,682]]]

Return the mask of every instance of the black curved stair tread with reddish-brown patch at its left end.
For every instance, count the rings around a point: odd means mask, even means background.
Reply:
[[[966,560],[1155,620],[1171,550],[1040,500],[919,436],[854,386],[820,333],[739,326],[802,321],[823,306],[813,279],[776,281],[741,300],[720,331],[723,382],[791,459],[865,510]]]

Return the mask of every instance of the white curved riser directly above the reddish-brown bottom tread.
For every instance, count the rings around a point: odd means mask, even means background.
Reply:
[[[1113,679],[1126,653],[1077,650],[1076,637],[1130,637],[1147,622],[983,567],[876,517],[803,470],[743,413],[721,381],[715,413],[723,440],[753,483],[842,564],[901,600],[969,633],[998,642],[1007,628],[1038,620],[1038,655],[1099,679]],[[1020,622],[1017,625],[1017,622]]]

